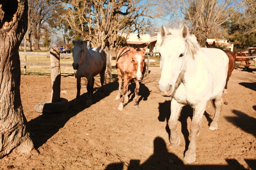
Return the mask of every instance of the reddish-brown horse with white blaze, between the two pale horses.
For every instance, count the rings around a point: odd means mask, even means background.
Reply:
[[[136,81],[136,87],[134,90],[134,108],[138,109],[138,94],[139,94],[139,86],[143,79],[144,73],[146,71],[145,65],[145,56],[144,52],[147,47],[143,48],[140,51],[136,51],[136,49],[131,47],[123,47],[117,52],[117,60],[115,67],[117,68],[117,76],[118,76],[118,94],[116,99],[120,99],[121,95],[121,87],[123,81],[123,96],[121,98],[120,105],[118,106],[118,110],[123,110],[124,101],[128,101],[128,85],[130,81]],[[124,78],[122,80],[122,75]]]

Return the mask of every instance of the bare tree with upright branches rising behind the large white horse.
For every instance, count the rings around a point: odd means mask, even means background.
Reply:
[[[166,14],[170,11],[170,21],[186,22],[198,43],[205,46],[206,38],[225,34],[221,24],[230,19],[242,4],[240,0],[167,0],[163,8]]]

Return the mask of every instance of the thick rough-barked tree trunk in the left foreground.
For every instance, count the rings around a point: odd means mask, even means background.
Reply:
[[[0,158],[11,152],[29,153],[33,143],[20,97],[19,45],[27,30],[27,0],[0,3]]]

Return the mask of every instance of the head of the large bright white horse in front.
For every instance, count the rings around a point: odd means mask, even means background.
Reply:
[[[162,43],[159,54],[161,56],[160,67],[162,71],[158,87],[161,95],[172,96],[183,78],[187,56],[192,56],[191,59],[193,59],[196,53],[196,51],[188,50],[188,45],[190,44],[187,41],[196,40],[192,36],[188,40],[188,27],[183,24],[179,29],[169,30],[166,30],[162,25],[160,34]]]

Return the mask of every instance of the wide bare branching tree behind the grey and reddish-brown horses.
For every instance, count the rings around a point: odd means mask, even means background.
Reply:
[[[91,41],[93,47],[111,50],[118,48],[119,44],[124,42],[120,33],[140,31],[145,26],[144,17],[152,18],[147,13],[147,9],[154,4],[150,1],[144,2],[73,0],[69,4],[62,3],[66,9],[63,19],[84,40]]]

